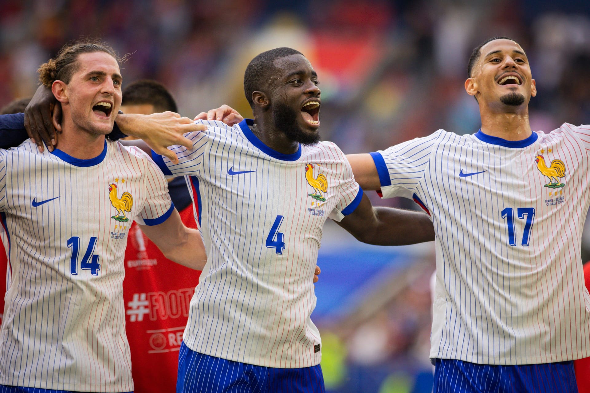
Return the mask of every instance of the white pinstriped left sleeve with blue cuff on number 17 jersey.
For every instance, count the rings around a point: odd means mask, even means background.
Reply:
[[[432,150],[445,131],[369,153],[375,161],[383,198],[411,198],[430,163]]]

